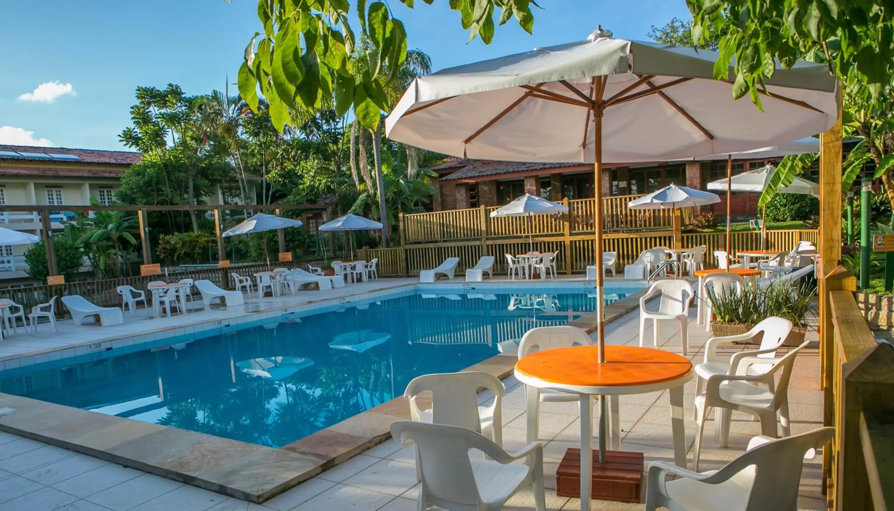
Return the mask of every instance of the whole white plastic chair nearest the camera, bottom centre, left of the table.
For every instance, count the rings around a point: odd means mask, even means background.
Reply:
[[[546,510],[544,447],[534,442],[509,454],[475,431],[456,426],[392,422],[392,436],[412,441],[422,485],[417,509],[438,506],[463,511],[500,511],[516,492],[530,485],[536,511]],[[472,458],[476,449],[490,459]],[[527,458],[527,464],[513,463]]]

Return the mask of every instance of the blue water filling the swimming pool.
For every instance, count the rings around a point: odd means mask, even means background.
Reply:
[[[606,289],[607,302],[634,290]],[[279,447],[400,396],[419,375],[465,369],[530,328],[595,311],[582,291],[396,294],[7,370],[0,391]]]

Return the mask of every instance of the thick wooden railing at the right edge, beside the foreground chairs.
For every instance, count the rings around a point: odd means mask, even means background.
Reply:
[[[821,346],[825,409],[835,426],[823,449],[828,508],[894,509],[894,345],[878,343],[844,268],[827,277],[833,342]],[[841,289],[841,290],[833,290]]]

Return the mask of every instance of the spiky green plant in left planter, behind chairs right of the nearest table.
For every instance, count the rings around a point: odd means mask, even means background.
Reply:
[[[722,296],[708,289],[707,299],[713,311],[711,330],[714,336],[744,334],[767,317],[766,298],[761,290],[755,290],[751,285],[733,288]]]

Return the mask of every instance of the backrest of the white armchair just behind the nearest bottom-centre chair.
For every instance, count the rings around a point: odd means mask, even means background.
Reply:
[[[501,395],[503,384],[500,379],[486,372],[451,372],[426,374],[410,380],[403,395],[409,399],[410,414],[414,421],[419,419],[417,396],[422,392],[432,393],[432,422],[458,426],[481,432],[478,417],[477,394],[479,388],[486,388],[494,395]]]

